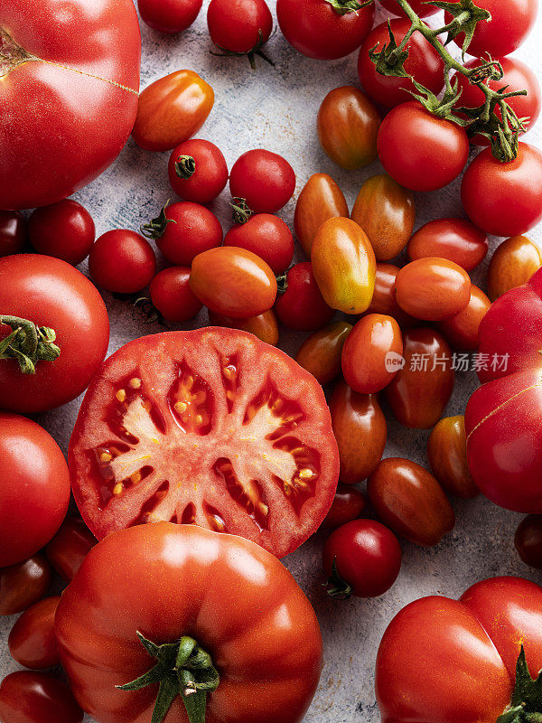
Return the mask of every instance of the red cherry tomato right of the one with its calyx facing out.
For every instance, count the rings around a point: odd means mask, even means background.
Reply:
[[[245,199],[251,211],[275,213],[294,195],[294,169],[282,155],[263,148],[247,151],[231,168],[229,190],[234,198]]]

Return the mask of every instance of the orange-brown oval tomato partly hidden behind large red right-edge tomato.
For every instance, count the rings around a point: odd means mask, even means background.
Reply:
[[[470,499],[480,494],[467,464],[467,437],[463,415],[444,417],[427,440],[431,471],[446,492]]]

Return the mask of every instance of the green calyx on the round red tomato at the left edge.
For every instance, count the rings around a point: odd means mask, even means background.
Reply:
[[[0,316],[0,324],[12,329],[0,341],[0,359],[16,359],[23,374],[35,374],[38,362],[54,362],[61,355],[54,329],[18,316]]]

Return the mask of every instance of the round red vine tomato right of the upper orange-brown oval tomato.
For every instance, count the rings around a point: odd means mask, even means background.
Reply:
[[[464,128],[434,116],[413,100],[390,110],[382,121],[378,157],[405,188],[436,191],[463,171],[469,138]]]

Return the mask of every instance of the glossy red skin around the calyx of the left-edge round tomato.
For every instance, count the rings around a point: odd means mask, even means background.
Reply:
[[[29,319],[56,332],[61,355],[23,374],[15,360],[0,361],[0,409],[28,414],[59,407],[89,385],[109,343],[106,305],[76,268],[58,258],[23,254],[0,259],[0,313]],[[0,337],[11,333],[0,326]]]

